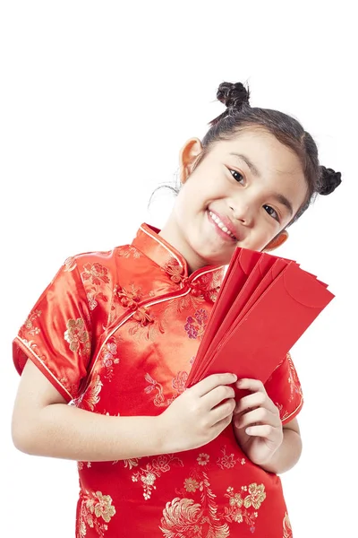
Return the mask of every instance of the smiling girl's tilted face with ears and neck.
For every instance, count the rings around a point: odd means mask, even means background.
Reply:
[[[191,272],[229,264],[235,247],[260,251],[281,244],[307,195],[294,152],[274,135],[249,129],[214,144],[194,169],[201,151],[198,139],[183,147],[183,187],[160,232]]]

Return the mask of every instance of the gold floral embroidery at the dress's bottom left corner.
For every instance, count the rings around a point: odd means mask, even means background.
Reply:
[[[107,523],[115,516],[115,507],[112,498],[103,495],[101,491],[81,493],[81,511],[79,516],[79,530],[76,538],[83,538],[87,534],[87,525],[94,528],[100,538],[103,538],[108,529]],[[105,522],[105,524],[102,522]]]

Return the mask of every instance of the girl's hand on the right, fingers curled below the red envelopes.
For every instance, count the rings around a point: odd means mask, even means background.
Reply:
[[[284,439],[277,406],[257,379],[240,379],[237,388],[251,391],[234,409],[234,435],[243,452],[257,465],[267,464]]]

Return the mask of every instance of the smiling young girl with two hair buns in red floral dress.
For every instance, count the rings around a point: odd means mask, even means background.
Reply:
[[[277,476],[302,446],[291,357],[265,386],[231,372],[185,384],[235,247],[282,245],[340,174],[243,84],[217,99],[225,112],[183,146],[163,230],[67,258],[13,341],[13,442],[78,461],[76,538],[292,536]]]

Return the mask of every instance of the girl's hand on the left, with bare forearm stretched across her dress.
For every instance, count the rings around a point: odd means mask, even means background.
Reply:
[[[158,416],[166,452],[202,447],[226,429],[235,407],[234,374],[214,374],[175,398]]]

